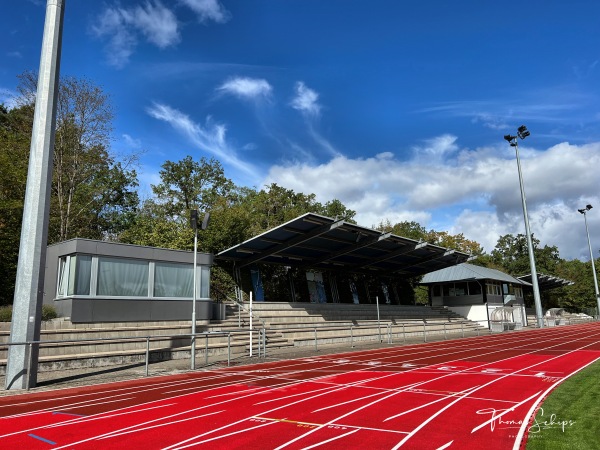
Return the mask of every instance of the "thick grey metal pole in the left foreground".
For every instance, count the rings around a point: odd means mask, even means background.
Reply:
[[[64,3],[46,3],[9,342],[40,338]],[[35,387],[38,348],[33,350],[32,364],[26,367],[27,347],[9,346],[6,389]]]

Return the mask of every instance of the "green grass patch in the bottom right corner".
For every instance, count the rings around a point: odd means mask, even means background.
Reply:
[[[600,361],[561,383],[542,403],[529,431],[527,450],[600,449],[598,436]]]

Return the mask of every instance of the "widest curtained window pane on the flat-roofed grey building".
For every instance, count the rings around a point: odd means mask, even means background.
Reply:
[[[148,296],[148,262],[98,258],[98,295]]]

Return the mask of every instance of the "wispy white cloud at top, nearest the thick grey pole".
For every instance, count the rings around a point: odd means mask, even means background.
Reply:
[[[92,32],[108,39],[108,62],[118,68],[129,62],[140,34],[159,48],[180,40],[175,14],[158,0],[133,8],[108,7],[92,26]]]

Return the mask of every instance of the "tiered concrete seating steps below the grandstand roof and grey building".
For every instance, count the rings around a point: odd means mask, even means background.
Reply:
[[[231,353],[247,354],[250,325],[248,304],[243,309],[235,304],[226,305],[226,318],[198,324],[197,333],[224,332],[231,334]],[[265,330],[267,351],[314,345],[315,328],[318,332],[318,344],[343,343],[360,340],[376,340],[383,335],[387,339],[388,324],[392,324],[395,340],[401,333],[422,335],[423,323],[427,333],[472,332],[478,325],[468,322],[445,308],[425,306],[379,305],[380,328],[377,323],[376,305],[352,304],[306,304],[306,303],[267,303],[253,304],[254,328]],[[459,325],[459,322],[462,325]],[[0,373],[6,365],[6,343],[9,337],[9,324],[0,324]],[[352,326],[352,332],[349,331]],[[234,333],[246,330],[245,333]],[[40,345],[40,370],[55,370],[64,367],[100,367],[121,364],[123,362],[143,361],[145,358],[147,336],[154,336],[150,342],[151,360],[189,358],[190,353],[189,322],[147,322],[110,323],[110,324],[73,324],[68,319],[54,319],[42,323],[41,340],[93,340],[117,338],[117,341],[51,343]],[[181,336],[180,336],[181,335]],[[187,337],[184,335],[188,335]],[[161,338],[160,336],[164,336]],[[255,346],[258,337],[255,334]],[[137,337],[139,340],[133,342]],[[227,353],[226,335],[211,336],[208,342],[209,355]],[[256,348],[256,347],[255,347]],[[196,340],[196,352],[204,356],[206,340],[199,336]]]

